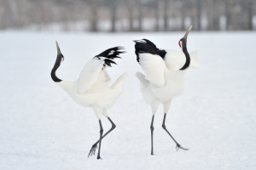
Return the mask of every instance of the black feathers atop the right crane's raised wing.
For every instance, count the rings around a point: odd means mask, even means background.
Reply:
[[[148,39],[136,40],[135,42],[135,54],[137,55],[137,62],[139,63],[140,58],[139,54],[148,53],[148,54],[157,54],[162,59],[166,56],[166,51],[164,49],[157,48],[153,42],[150,42]]]

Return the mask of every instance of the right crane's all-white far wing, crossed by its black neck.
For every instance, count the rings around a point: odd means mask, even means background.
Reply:
[[[189,67],[197,69],[200,66],[200,60],[198,58],[198,50],[189,53],[190,65]],[[166,50],[165,63],[169,70],[177,71],[183,67],[186,62],[186,57],[183,52]]]

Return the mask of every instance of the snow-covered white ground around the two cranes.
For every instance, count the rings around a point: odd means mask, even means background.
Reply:
[[[191,32],[188,49],[199,49],[201,68],[189,69],[185,91],[172,100],[166,127],[160,106],[154,119],[154,156],[150,155],[151,109],[134,76],[142,71],[134,42],[148,38],[160,48],[180,50],[184,32],[35,33],[0,32],[0,169],[255,169],[256,33]],[[65,56],[57,76],[75,80],[85,63],[107,48],[127,53],[108,68],[112,82],[128,71],[125,92],[109,109],[116,128],[102,140],[102,160],[87,158],[100,127],[49,76],[55,40]],[[111,84],[110,83],[110,84]],[[111,124],[102,117],[104,132]]]

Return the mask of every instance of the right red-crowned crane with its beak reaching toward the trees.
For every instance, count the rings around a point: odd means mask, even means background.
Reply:
[[[189,31],[192,26],[189,27]],[[164,106],[164,120],[162,127],[166,130],[174,142],[176,148],[183,148],[172,137],[171,133],[166,129],[166,113],[168,112],[172,99],[183,94],[184,90],[184,74],[189,69],[199,68],[200,61],[198,52],[188,53],[187,38],[189,31],[186,32],[183,38],[178,41],[178,44],[183,52],[173,50],[161,50],[156,48],[153,42],[147,39],[135,41],[135,54],[137,54],[137,62],[141,65],[144,76],[141,72],[137,72],[136,76],[140,81],[141,92],[143,98],[151,106],[153,116],[151,122],[151,155],[154,155],[153,148],[153,131],[154,131],[154,114],[157,111],[160,103]]]

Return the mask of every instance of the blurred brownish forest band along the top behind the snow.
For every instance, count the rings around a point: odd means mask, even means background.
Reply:
[[[256,30],[256,0],[0,0],[0,30]]]

